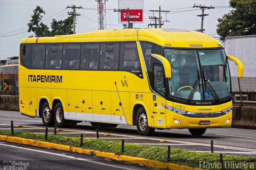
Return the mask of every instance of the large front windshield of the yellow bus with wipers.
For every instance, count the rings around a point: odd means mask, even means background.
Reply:
[[[164,49],[171,64],[169,95],[188,101],[218,100],[229,97],[230,72],[223,49]]]

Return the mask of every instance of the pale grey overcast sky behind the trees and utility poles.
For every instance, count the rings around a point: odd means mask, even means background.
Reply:
[[[128,0],[127,0],[128,1]],[[201,18],[196,16],[202,14],[199,8],[192,8],[194,4],[205,6],[214,5],[214,9],[206,9],[204,18],[205,34],[218,37],[216,28],[218,18],[228,13],[228,0],[144,0],[144,23],[136,23],[135,28],[148,28],[150,24],[149,16],[153,12],[149,10],[170,10],[167,15],[162,13],[164,22],[162,28],[178,28],[186,30],[197,30],[201,28]],[[68,11],[71,8],[67,6],[82,6],[76,12],[81,16],[76,18],[76,34],[92,32],[98,30],[97,2],[95,0],[0,0],[0,59],[18,56],[20,41],[23,38],[34,35],[33,32],[27,32],[27,24],[31,20],[33,10],[36,6],[43,8],[46,14],[43,15],[42,22],[48,24],[52,19],[64,20],[68,17]],[[118,23],[118,0],[108,0],[106,2],[106,23],[107,29],[122,29],[123,25]],[[155,14],[158,16],[159,14]]]

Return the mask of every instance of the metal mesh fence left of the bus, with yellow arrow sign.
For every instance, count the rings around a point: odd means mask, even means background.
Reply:
[[[0,95],[19,95],[17,74],[0,75],[0,84]]]

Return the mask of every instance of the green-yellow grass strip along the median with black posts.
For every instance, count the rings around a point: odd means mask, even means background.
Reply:
[[[14,135],[11,131],[0,130],[0,135],[15,136],[20,138],[27,138],[33,140],[44,140],[44,134],[33,134],[25,132],[15,132]],[[100,139],[83,139],[83,146],[80,146],[80,138],[66,137],[60,135],[48,135],[47,142],[63,144],[72,147],[85,148],[98,150],[102,152],[112,152],[116,155],[134,156],[139,158],[146,158],[150,160],[157,160],[160,162],[167,161],[167,148],[159,146],[140,146],[136,144],[125,144],[124,150],[121,151],[122,143],[120,141],[104,141]],[[171,144],[170,144],[171,145]],[[219,169],[218,163],[220,162],[219,154],[212,154],[209,152],[198,153],[182,149],[171,148],[170,161],[179,165],[185,165],[197,168],[210,168]],[[200,164],[202,165],[201,167]],[[229,169],[254,169],[256,168],[256,156],[231,156],[223,155],[223,164]],[[203,166],[204,165],[204,166]],[[214,167],[213,167],[214,166]],[[232,168],[233,167],[233,168]]]

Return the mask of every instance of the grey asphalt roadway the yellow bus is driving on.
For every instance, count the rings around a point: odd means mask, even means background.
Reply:
[[[0,111],[0,130],[10,130],[10,121],[15,131],[34,132],[44,134],[45,127],[41,118],[30,118],[18,112]],[[116,128],[100,128],[100,138],[104,140],[125,140],[125,143],[140,145],[154,145],[181,148],[196,152],[210,152],[210,140],[214,141],[214,153],[231,155],[256,156],[256,129],[246,128],[211,128],[203,136],[192,136],[188,129],[157,130],[154,136],[140,136],[135,126],[118,125]],[[49,134],[53,128],[49,128]],[[79,137],[83,133],[85,138],[96,138],[96,128],[90,123],[79,123],[76,128],[65,128],[58,131],[58,135]],[[111,136],[105,136],[111,134]],[[166,142],[160,142],[166,140]]]

